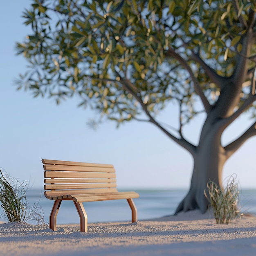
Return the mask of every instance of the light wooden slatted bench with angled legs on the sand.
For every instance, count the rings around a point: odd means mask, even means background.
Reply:
[[[137,209],[132,198],[135,192],[118,192],[116,174],[111,164],[91,164],[43,159],[45,170],[44,195],[55,200],[49,226],[56,231],[56,217],[62,200],[72,200],[80,217],[80,231],[87,232],[87,215],[82,202],[126,199],[132,210],[132,222],[137,221]]]

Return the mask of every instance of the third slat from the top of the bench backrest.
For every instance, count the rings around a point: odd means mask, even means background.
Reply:
[[[65,172],[65,171],[45,171],[45,178],[115,178],[115,173],[86,173],[86,172]]]

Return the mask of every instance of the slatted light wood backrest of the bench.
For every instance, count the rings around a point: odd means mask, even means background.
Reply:
[[[43,159],[45,190],[51,195],[116,192],[112,164],[91,164]]]

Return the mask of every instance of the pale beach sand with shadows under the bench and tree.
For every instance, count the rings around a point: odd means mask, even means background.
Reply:
[[[0,256],[255,256],[256,217],[216,224],[210,213],[179,213],[153,220],[47,225],[0,224]]]

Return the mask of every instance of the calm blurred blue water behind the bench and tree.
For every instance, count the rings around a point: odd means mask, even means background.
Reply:
[[[122,191],[119,189],[119,191]],[[168,216],[175,212],[176,207],[186,195],[187,190],[126,190],[136,191],[140,197],[134,202],[138,210],[138,220]],[[27,192],[27,199],[30,207],[39,202],[43,209],[44,218],[49,222],[49,213],[52,209],[53,201],[45,198],[43,190],[30,189]],[[88,222],[112,222],[130,221],[131,211],[126,200],[110,200],[102,202],[83,203],[88,215]],[[243,212],[256,215],[256,189],[240,190],[240,208]],[[0,214],[1,214],[0,210]],[[2,221],[6,221],[3,217]],[[30,221],[31,224],[36,224]],[[79,217],[72,201],[64,201],[61,204],[57,216],[57,224],[79,223]]]

